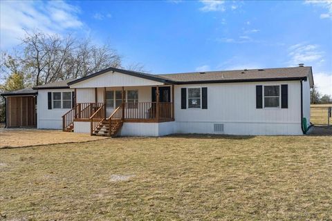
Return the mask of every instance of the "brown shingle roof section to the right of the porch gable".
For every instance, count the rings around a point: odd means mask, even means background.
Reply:
[[[257,79],[295,79],[301,77],[308,77],[311,75],[311,67],[296,67],[296,68],[265,68],[265,69],[251,69],[251,70],[222,70],[222,71],[208,71],[205,73],[177,73],[158,75],[171,81],[179,83],[201,82],[204,81],[255,81]]]

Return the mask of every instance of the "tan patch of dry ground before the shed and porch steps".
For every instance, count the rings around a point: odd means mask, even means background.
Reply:
[[[0,148],[87,142],[101,139],[104,139],[104,137],[90,136],[83,133],[64,133],[59,130],[0,128]]]

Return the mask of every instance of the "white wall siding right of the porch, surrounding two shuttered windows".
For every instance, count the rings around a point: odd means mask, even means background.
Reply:
[[[288,84],[288,108],[256,108],[256,85]],[[181,88],[208,87],[208,109],[181,109]],[[175,86],[176,133],[301,135],[299,81]],[[224,124],[214,132],[214,124]]]

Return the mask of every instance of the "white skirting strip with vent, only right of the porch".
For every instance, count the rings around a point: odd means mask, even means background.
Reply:
[[[223,131],[214,131],[214,124],[223,124]],[[301,124],[176,122],[174,133],[227,135],[302,135]]]

